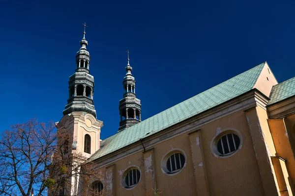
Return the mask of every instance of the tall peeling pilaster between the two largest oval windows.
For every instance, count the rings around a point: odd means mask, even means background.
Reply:
[[[209,196],[209,184],[206,170],[206,160],[201,136],[201,129],[188,134],[194,166],[196,191],[198,196]]]

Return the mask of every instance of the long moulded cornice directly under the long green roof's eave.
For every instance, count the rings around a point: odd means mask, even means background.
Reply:
[[[233,98],[223,104],[215,106],[201,114],[191,117],[185,121],[170,126],[155,134],[150,134],[145,138],[143,143],[146,149],[151,148],[159,143],[170,140],[183,133],[190,133],[200,129],[201,126],[216,121],[220,118],[233,114],[237,111],[244,111],[252,107],[261,106],[266,108],[267,98],[262,95],[256,89],[253,89],[245,94],[242,94],[236,98]],[[161,139],[159,139],[161,138]],[[96,160],[93,160],[98,167],[103,167],[116,162],[119,159],[130,156],[131,154],[143,151],[143,147],[140,141],[135,142],[129,146],[118,149],[110,154],[102,156]]]

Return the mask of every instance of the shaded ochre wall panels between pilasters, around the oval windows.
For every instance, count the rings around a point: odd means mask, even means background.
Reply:
[[[211,196],[265,195],[244,112],[239,111],[228,115],[201,126],[200,129],[202,134],[198,135],[198,137],[202,137],[202,150],[204,152],[204,156],[201,158],[204,161],[202,164],[198,163],[193,165],[192,160],[193,148],[191,148],[190,141],[196,141],[196,143],[198,143],[197,136],[189,136],[187,133],[184,133],[153,146],[155,182],[157,189],[160,189],[160,192],[162,192],[160,195],[196,196],[196,184],[200,185],[199,188],[202,188],[203,186],[205,189],[208,189],[208,195]],[[242,147],[233,156],[217,158],[211,152],[211,141],[216,135],[229,129],[240,132],[242,135]],[[190,137],[193,137],[192,140],[190,140]],[[161,160],[169,151],[178,148],[185,152],[187,157],[186,166],[176,175],[169,176],[162,171]],[[145,182],[147,171],[143,151],[122,158],[112,164],[116,165],[114,183],[112,184],[116,191],[116,195],[142,196],[146,195],[146,190],[152,188],[146,187],[146,184],[148,183]],[[126,169],[132,166],[136,166],[140,169],[141,180],[134,188],[127,190],[121,186],[122,174]],[[200,168],[205,166],[205,173],[207,176],[204,180],[207,181],[208,187],[206,187],[206,183],[195,180],[197,178],[195,178],[194,167]],[[104,173],[108,169],[102,167],[100,170]],[[104,181],[106,182],[106,179],[104,179]]]

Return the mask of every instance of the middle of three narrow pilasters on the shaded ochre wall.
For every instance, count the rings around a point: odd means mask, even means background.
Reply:
[[[154,148],[144,152],[144,164],[146,196],[153,196],[152,189],[155,189],[156,185]]]

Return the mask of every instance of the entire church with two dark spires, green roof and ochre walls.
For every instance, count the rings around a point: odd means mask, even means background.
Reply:
[[[89,189],[104,196],[295,195],[295,77],[278,83],[264,62],[142,121],[128,52],[118,132],[101,140],[85,31],[80,45],[56,125],[71,133],[68,153],[81,153],[102,173]],[[79,195],[77,180],[64,195]]]

